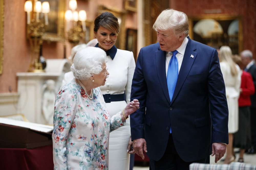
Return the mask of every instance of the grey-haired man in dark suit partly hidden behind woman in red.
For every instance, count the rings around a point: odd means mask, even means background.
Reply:
[[[253,83],[256,88],[256,65],[253,60],[253,55],[250,50],[244,50],[240,53],[244,70],[252,75]],[[251,141],[252,146],[247,153],[256,153],[256,94],[251,95]]]

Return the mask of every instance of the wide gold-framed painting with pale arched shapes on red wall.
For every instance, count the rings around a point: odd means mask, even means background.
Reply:
[[[189,37],[216,49],[227,45],[233,54],[239,54],[243,47],[242,18],[230,15],[189,17]]]

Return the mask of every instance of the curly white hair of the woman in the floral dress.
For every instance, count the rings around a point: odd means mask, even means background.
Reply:
[[[97,47],[86,47],[76,53],[70,69],[75,78],[79,80],[89,79],[94,74],[102,71],[106,52]]]

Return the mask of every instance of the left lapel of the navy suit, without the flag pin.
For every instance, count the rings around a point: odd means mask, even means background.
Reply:
[[[156,71],[157,71],[158,79],[161,84],[165,98],[170,103],[170,97],[169,97],[169,92],[168,92],[168,87],[166,82],[166,71],[165,71],[166,52],[159,49],[159,51],[155,53],[155,58],[156,58]]]

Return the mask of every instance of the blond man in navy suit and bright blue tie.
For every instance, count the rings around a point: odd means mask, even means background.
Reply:
[[[228,143],[228,106],[216,49],[188,37],[188,18],[166,9],[153,28],[158,43],[141,48],[131,100],[133,148],[151,169],[189,169],[215,162]],[[172,59],[173,57],[173,59]]]

